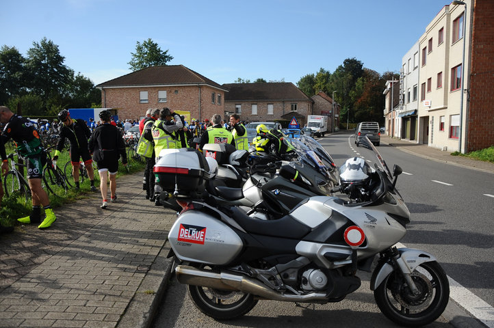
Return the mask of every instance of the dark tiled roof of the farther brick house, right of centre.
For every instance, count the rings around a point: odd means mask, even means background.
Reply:
[[[225,101],[242,100],[308,100],[298,87],[291,82],[274,83],[226,83],[223,85],[230,91],[224,95]]]

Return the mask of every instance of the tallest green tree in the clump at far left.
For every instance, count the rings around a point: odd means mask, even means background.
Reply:
[[[33,42],[33,47],[27,51],[29,90],[45,100],[64,94],[71,74],[64,60],[58,46],[51,40],[43,38],[40,43]]]

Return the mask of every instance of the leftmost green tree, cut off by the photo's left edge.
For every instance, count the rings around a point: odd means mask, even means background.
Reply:
[[[0,104],[12,96],[25,93],[25,58],[15,47],[0,50]]]

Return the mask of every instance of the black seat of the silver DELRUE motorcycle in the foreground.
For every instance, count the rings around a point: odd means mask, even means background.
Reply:
[[[233,207],[230,208],[231,217],[246,232],[251,234],[261,234],[263,236],[274,236],[281,238],[302,239],[309,232],[309,226],[300,223],[290,215],[285,215],[277,220],[261,220],[249,217],[243,210]]]

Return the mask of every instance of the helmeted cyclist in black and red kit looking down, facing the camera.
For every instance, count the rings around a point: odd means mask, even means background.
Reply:
[[[58,113],[58,119],[63,123],[60,127],[60,139],[57,143],[57,150],[53,161],[58,159],[60,152],[64,148],[65,138],[70,142],[70,163],[72,163],[72,176],[74,177],[75,189],[79,189],[79,159],[84,162],[88,170],[88,176],[91,183],[91,191],[96,191],[94,187],[94,170],[92,169],[92,159],[88,150],[88,139],[91,131],[86,122],[80,119],[70,118],[68,110],[63,109]]]

